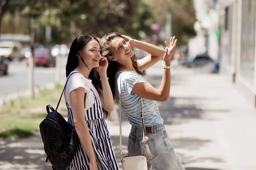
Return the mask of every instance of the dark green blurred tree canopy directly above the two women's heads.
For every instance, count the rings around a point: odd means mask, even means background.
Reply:
[[[140,30],[151,31],[150,9],[143,0],[64,0],[58,10],[63,40],[74,39],[81,33],[101,37],[113,31],[138,38]]]

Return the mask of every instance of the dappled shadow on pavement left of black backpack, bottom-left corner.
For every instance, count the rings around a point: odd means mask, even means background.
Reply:
[[[0,139],[0,170],[50,170],[40,134],[26,139]]]

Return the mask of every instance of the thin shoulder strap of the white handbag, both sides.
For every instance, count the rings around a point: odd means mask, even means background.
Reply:
[[[121,95],[121,78],[122,78],[122,74],[121,73],[119,75],[120,77],[120,90],[119,90],[119,137],[120,137],[120,146],[119,146],[119,149],[120,149],[120,161],[122,161],[122,95]],[[144,125],[144,117],[143,117],[143,98],[141,97],[140,98],[140,102],[141,102],[141,113],[140,113],[140,116],[141,116],[141,119],[142,119],[142,125],[143,125],[143,128],[145,129],[145,125]],[[143,130],[143,145],[144,145],[144,156],[146,156],[146,144],[145,144],[145,133],[144,133],[144,130]]]

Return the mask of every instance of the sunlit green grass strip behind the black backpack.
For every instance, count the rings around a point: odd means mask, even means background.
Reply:
[[[47,115],[46,106],[56,108],[63,90],[62,85],[44,89],[35,98],[22,97],[0,106],[0,138],[23,138],[39,131],[39,124]],[[58,112],[67,115],[64,96]]]

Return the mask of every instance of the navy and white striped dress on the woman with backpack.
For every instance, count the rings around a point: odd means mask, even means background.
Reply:
[[[93,92],[93,90],[91,91]],[[74,126],[73,113],[68,105],[67,110],[68,123]],[[119,170],[108,128],[103,116],[102,105],[96,95],[94,105],[85,111],[85,119],[89,128],[94,152],[96,153],[96,161],[99,170]],[[80,142],[76,156],[70,162],[66,170],[89,170],[89,162],[89,158]]]

